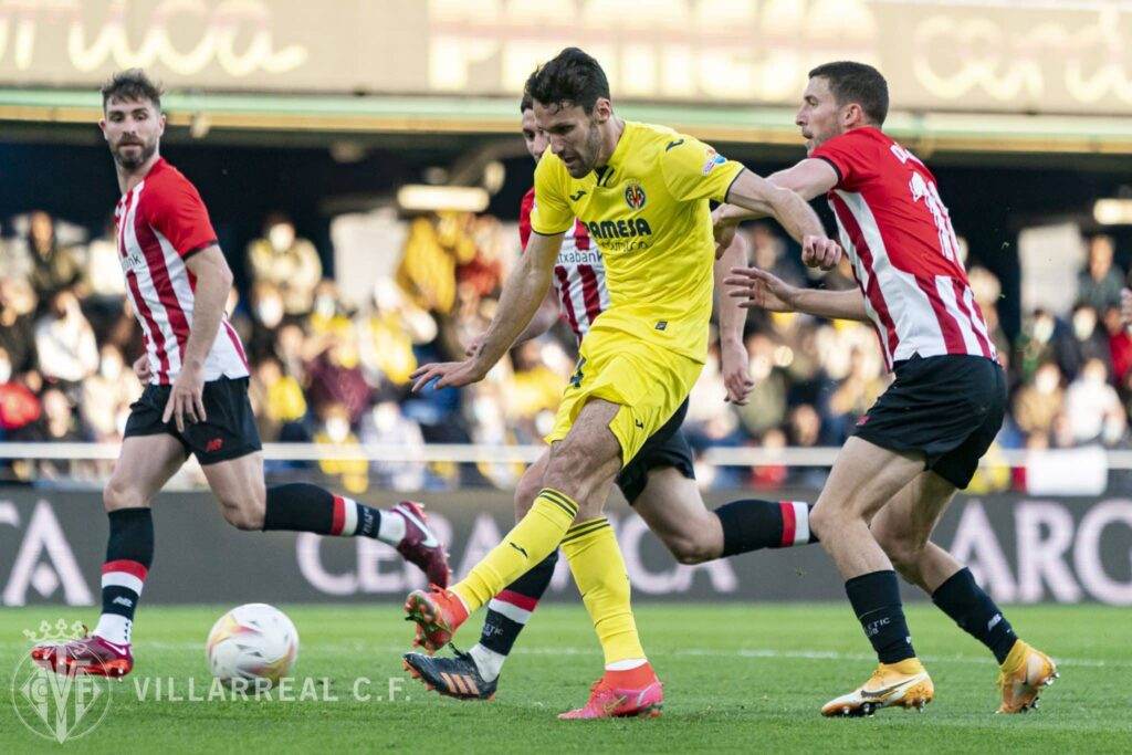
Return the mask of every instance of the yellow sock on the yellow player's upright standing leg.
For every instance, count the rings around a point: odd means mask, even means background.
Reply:
[[[606,666],[644,659],[629,608],[629,577],[606,517],[575,524],[561,542],[574,582],[606,654]]]

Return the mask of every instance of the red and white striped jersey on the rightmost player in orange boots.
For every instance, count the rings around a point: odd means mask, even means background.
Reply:
[[[935,177],[880,129],[856,128],[814,151],[885,363],[912,354],[997,359]]]

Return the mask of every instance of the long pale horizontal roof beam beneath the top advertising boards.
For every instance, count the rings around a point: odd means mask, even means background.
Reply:
[[[188,127],[198,138],[218,139],[241,132],[266,139],[351,135],[374,143],[391,136],[482,137],[512,135],[517,121],[514,100],[498,97],[191,92],[168,94],[163,104],[172,126]],[[617,109],[626,118],[664,123],[717,143],[799,146],[789,108],[619,102]],[[0,88],[0,122],[11,127],[86,126],[98,117],[97,96],[89,91]],[[1132,156],[1132,125],[1117,117],[893,111],[885,130],[925,156]]]

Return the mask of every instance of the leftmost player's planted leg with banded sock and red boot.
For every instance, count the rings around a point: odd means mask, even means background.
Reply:
[[[185,446],[169,435],[126,438],[114,472],[103,491],[110,518],[106,560],[102,567],[102,616],[88,636],[37,645],[32,658],[60,674],[123,677],[134,668],[130,638],[134,612],[153,563],[151,506],[161,488],[186,460]]]

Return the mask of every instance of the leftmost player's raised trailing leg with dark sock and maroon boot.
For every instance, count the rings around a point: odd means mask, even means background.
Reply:
[[[268,488],[260,452],[201,469],[224,521],[234,527],[375,538],[396,548],[434,584],[448,583],[448,555],[429,529],[419,504],[403,500],[392,508],[377,509],[308,483]]]

